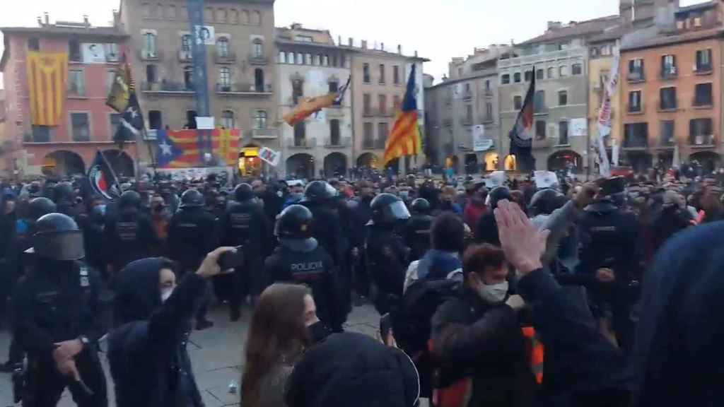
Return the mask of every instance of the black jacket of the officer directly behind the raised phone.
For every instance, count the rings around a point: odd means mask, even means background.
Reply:
[[[220,226],[224,246],[244,246],[245,253],[256,256],[264,256],[271,246],[271,224],[259,204],[231,204]]]

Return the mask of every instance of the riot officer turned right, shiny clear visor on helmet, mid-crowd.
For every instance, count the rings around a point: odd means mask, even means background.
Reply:
[[[392,302],[403,295],[410,248],[405,246],[398,230],[402,222],[410,219],[410,212],[391,193],[379,194],[370,207],[372,220],[365,243],[367,270],[377,289],[375,308],[380,314],[387,314]]]

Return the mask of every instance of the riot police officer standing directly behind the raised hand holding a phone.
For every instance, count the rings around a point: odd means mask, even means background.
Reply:
[[[271,248],[271,223],[264,208],[255,198],[251,185],[242,183],[234,189],[235,203],[222,217],[222,244],[224,246],[243,246],[244,265],[230,277],[216,277],[219,282],[230,278],[230,317],[237,321],[241,304],[246,295],[259,295],[264,290],[263,261]]]

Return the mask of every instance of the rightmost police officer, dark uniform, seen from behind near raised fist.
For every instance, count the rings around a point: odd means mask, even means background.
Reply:
[[[586,285],[599,311],[604,312],[605,306],[610,306],[618,343],[628,349],[633,340],[631,305],[640,281],[640,230],[636,216],[614,204],[613,195],[623,192],[623,179],[610,180],[610,185],[610,190],[602,188],[603,198],[587,206],[578,222],[581,251],[576,274],[589,276]],[[613,269],[614,282],[602,283],[595,279],[602,267]]]

